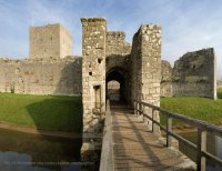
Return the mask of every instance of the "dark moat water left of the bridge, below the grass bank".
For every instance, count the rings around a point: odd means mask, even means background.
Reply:
[[[0,170],[81,170],[82,139],[33,135],[0,129]]]

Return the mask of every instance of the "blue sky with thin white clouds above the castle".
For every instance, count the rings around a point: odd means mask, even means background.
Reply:
[[[213,47],[222,79],[221,0],[0,0],[0,57],[29,56],[29,27],[60,22],[81,56],[83,17],[104,17],[108,30],[124,31],[127,41],[142,23],[162,27],[162,59],[173,62],[188,51]]]

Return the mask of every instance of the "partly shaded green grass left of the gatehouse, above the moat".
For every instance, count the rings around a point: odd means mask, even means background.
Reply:
[[[0,93],[0,121],[41,130],[80,132],[81,98]]]

